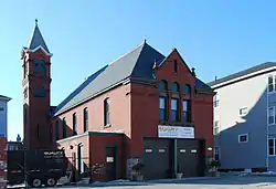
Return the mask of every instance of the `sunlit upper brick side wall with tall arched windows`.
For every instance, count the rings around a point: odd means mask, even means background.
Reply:
[[[55,138],[55,120],[60,122],[60,136],[62,136],[62,119],[66,118],[68,136],[73,134],[73,114],[77,116],[77,133],[84,133],[83,111],[88,109],[88,130],[97,132],[117,132],[121,130],[130,138],[130,84],[118,86],[107,93],[104,93],[66,113],[63,113],[52,120],[53,138]],[[105,128],[104,126],[104,101],[110,99],[110,124],[112,126]],[[62,138],[62,137],[61,137]],[[129,140],[129,139],[128,139]]]

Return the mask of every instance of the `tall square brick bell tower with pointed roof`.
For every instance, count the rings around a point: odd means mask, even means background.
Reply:
[[[51,146],[51,57],[52,53],[35,20],[31,40],[21,53],[25,149],[46,149]]]

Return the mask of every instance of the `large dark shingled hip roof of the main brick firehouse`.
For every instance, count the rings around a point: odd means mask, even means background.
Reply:
[[[163,59],[164,55],[148,45],[145,41],[135,50],[91,75],[56,107],[54,116],[89,99],[126,78],[155,80],[152,66],[155,62],[160,63]],[[210,86],[198,78],[195,87],[211,90]]]

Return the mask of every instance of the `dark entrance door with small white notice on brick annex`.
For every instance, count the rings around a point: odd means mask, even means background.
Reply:
[[[117,148],[106,147],[106,174],[108,180],[115,180],[117,177]]]

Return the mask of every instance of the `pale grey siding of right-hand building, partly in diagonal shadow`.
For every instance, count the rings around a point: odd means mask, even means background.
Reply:
[[[214,120],[220,122],[215,145],[220,146],[221,168],[267,167],[267,78],[257,75],[216,88],[220,106]],[[274,99],[270,98],[270,102]],[[247,107],[245,115],[240,109]],[[248,143],[238,143],[238,135],[248,134]],[[234,156],[233,156],[234,155]]]

